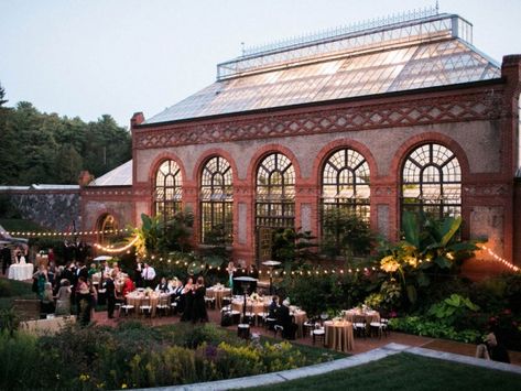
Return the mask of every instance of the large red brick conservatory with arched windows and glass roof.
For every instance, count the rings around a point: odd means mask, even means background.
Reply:
[[[497,64],[471,29],[427,11],[219,64],[207,88],[132,117],[132,161],[82,189],[84,229],[191,207],[195,243],[224,230],[254,262],[278,227],[319,236],[326,209],[397,239],[412,208],[463,216],[464,238],[520,265],[521,55]]]

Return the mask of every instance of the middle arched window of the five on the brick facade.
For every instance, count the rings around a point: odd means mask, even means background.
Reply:
[[[264,158],[257,169],[256,226],[284,228],[295,225],[295,170],[281,153]]]

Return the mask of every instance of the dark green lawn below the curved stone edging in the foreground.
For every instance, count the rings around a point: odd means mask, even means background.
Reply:
[[[521,376],[399,354],[365,366],[249,390],[521,390]]]

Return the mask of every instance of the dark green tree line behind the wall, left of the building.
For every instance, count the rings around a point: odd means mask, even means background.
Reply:
[[[77,184],[83,170],[98,177],[131,159],[130,132],[109,115],[85,122],[4,97],[0,85],[0,185]]]

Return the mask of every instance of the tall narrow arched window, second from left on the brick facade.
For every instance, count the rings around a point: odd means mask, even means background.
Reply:
[[[231,243],[234,228],[232,171],[228,161],[211,158],[200,176],[202,242]]]

